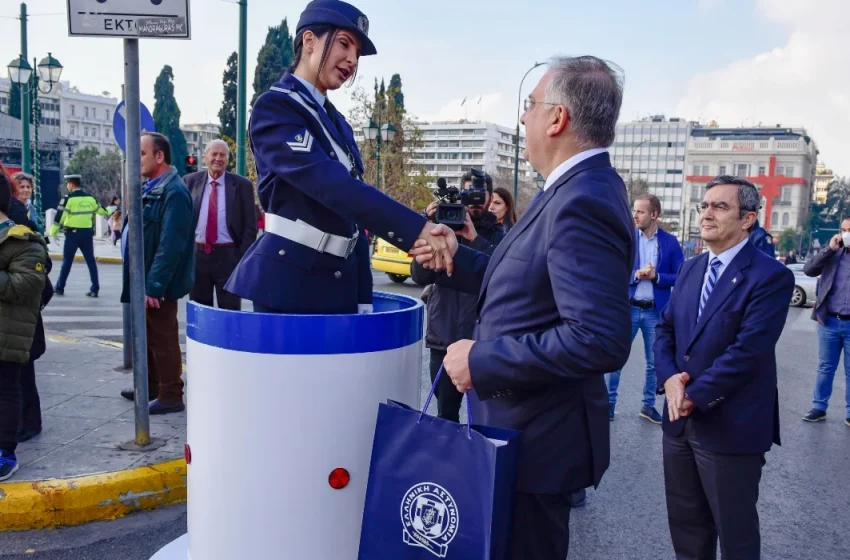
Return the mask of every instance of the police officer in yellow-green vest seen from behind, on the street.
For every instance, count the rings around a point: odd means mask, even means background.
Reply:
[[[100,205],[92,195],[85,192],[80,184],[81,175],[65,175],[68,194],[56,209],[56,218],[50,228],[50,237],[56,237],[59,228],[65,230],[65,245],[62,250],[62,269],[59,271],[59,281],[56,282],[54,293],[57,296],[65,294],[65,282],[74,264],[77,249],[83,253],[91,276],[91,289],[86,293],[89,297],[97,297],[100,284],[97,281],[97,262],[94,260],[94,216],[109,216],[109,211]]]

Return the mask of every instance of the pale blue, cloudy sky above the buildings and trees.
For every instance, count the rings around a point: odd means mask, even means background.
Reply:
[[[145,0],[137,0],[139,2]],[[185,2],[185,0],[163,0]],[[269,25],[294,30],[306,0],[248,0],[248,89]],[[594,54],[626,75],[621,120],[665,114],[724,125],[805,126],[821,159],[850,174],[850,2],[847,0],[357,0],[378,55],[362,85],[399,73],[408,111],[515,126],[525,71],[554,54]],[[29,57],[52,51],[63,80],[120,96],[120,39],[70,38],[67,0],[29,0]],[[427,8],[426,8],[427,6]],[[0,0],[0,54],[20,50],[16,0]],[[142,101],[174,68],[181,123],[218,122],[221,74],[238,44],[232,0],[191,0],[192,40],[142,40]],[[4,59],[5,60],[5,59]],[[543,74],[529,75],[523,96]],[[331,99],[342,111],[351,90]],[[466,106],[461,101],[467,98]],[[480,102],[479,102],[480,99]]]

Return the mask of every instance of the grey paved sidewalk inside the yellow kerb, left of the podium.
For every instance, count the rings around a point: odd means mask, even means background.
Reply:
[[[9,482],[69,478],[153,465],[183,457],[186,413],[151,416],[151,437],[166,440],[148,452],[123,451],[135,437],[133,403],[120,396],[132,372],[116,371],[122,350],[48,333],[35,362],[43,431],[18,446],[21,468]]]

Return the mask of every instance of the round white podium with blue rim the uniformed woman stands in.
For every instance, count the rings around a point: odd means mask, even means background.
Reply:
[[[362,315],[190,302],[188,535],[152,560],[357,557],[378,404],[419,403],[423,304]]]

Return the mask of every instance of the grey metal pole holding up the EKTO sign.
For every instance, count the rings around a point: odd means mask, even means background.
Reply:
[[[130,308],[133,322],[133,384],[135,388],[136,445],[151,442],[148,412],[148,356],[145,327],[145,262],[142,236],[141,109],[139,107],[139,40],[124,39],[124,84],[127,122],[127,250],[130,260]],[[123,248],[122,248],[123,249]]]

